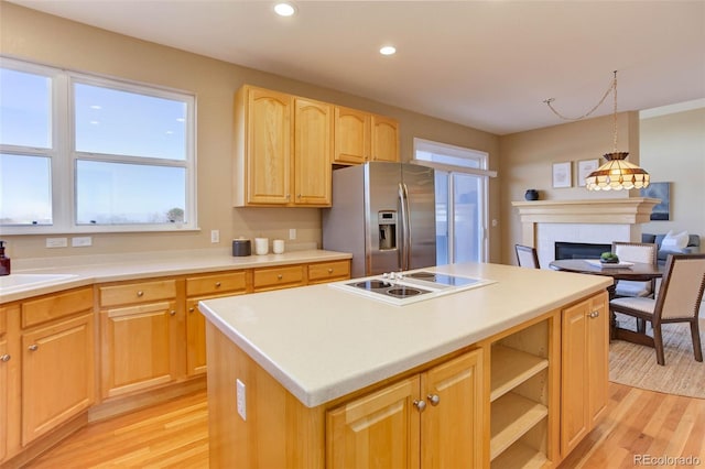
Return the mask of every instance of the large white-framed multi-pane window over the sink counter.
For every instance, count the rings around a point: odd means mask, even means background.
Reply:
[[[195,229],[193,95],[2,58],[9,234]]]

